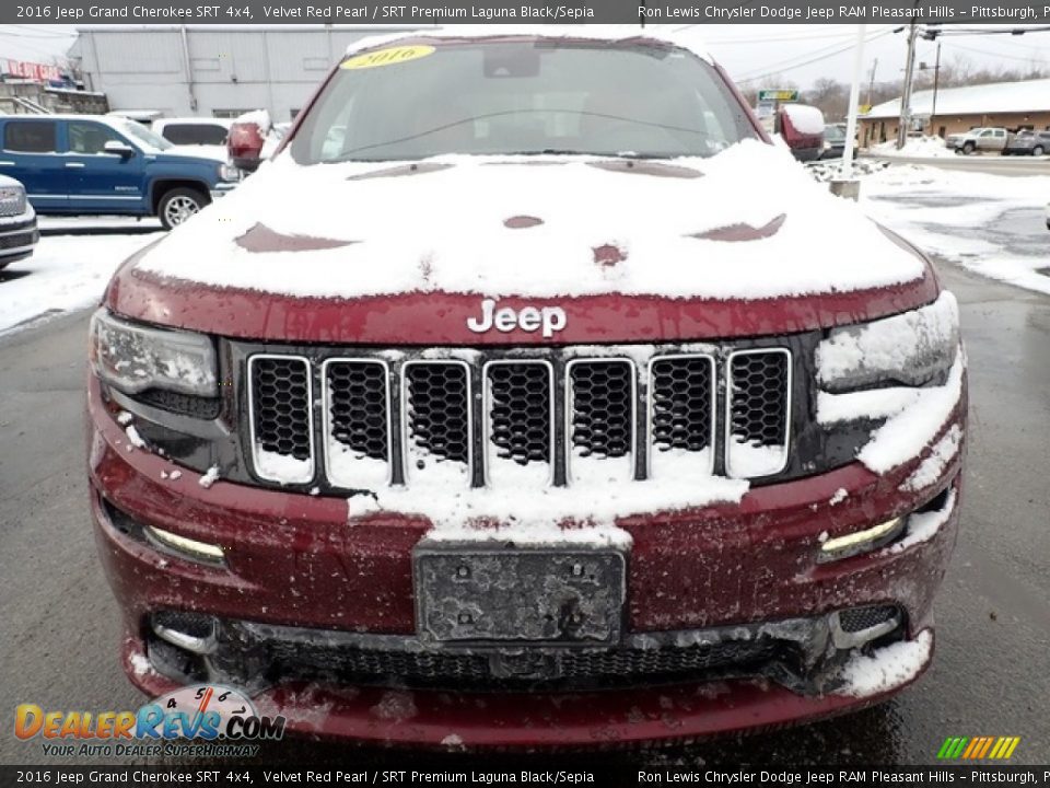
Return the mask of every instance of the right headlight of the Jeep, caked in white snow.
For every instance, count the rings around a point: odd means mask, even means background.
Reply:
[[[959,345],[959,308],[949,292],[929,306],[844,328],[817,347],[817,381],[833,394],[943,381]]]

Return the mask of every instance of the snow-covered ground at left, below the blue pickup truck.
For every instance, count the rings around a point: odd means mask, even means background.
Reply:
[[[117,266],[160,234],[156,222],[119,217],[42,218],[40,229],[71,233],[45,235],[32,257],[0,270],[0,334],[97,302]]]

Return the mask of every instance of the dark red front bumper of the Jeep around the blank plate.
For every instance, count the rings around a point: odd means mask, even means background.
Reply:
[[[160,695],[189,675],[179,677],[155,648],[151,616],[159,611],[213,616],[228,635],[253,629],[264,648],[243,648],[244,659],[233,661],[242,670],[245,659],[250,662],[265,653],[273,640],[304,634],[324,640],[328,633],[328,646],[336,649],[348,638],[372,639],[371,648],[383,638],[413,639],[411,555],[429,530],[425,519],[389,512],[348,519],[340,498],[222,480],[206,488],[197,473],[185,468],[173,479],[176,467],[171,462],[133,445],[129,450],[94,379],[89,383],[89,410],[95,533],[124,611],[124,667],[142,691]],[[965,412],[964,396],[943,432],[964,427]],[[254,676],[241,679],[258,680],[252,687],[257,706],[284,715],[291,730],[435,746],[686,740],[860,708],[913,681],[932,658],[932,602],[956,537],[962,451],[941,468],[935,482],[908,491],[905,483],[924,459],[913,457],[883,475],[854,463],[754,488],[739,505],[618,522],[633,540],[627,639],[641,642],[651,636],[656,642],[681,635],[702,641],[719,633],[722,641],[747,642],[763,624],[768,634],[783,633],[785,623],[804,622],[803,664],[794,672],[756,662],[748,670],[731,664],[618,682],[615,692],[609,685],[571,683],[540,691],[533,684],[470,692],[465,683],[411,690],[362,686],[334,681],[324,671],[282,680],[267,675],[270,663],[260,660]],[[923,507],[941,512],[935,529],[921,535],[906,531],[863,555],[817,560],[825,541]],[[133,523],[222,545],[224,564],[209,566],[158,551],[137,538],[133,528],[115,524],[112,511]],[[899,641],[876,645],[909,649],[911,669],[886,684],[855,687],[843,680],[849,673],[843,662],[872,658],[830,647],[827,622],[837,611],[870,605],[899,609],[901,625],[892,635]],[[800,637],[794,639],[797,645]],[[238,642],[244,646],[244,638]],[[305,652],[308,645],[300,648]],[[874,659],[879,653],[876,649]],[[209,663],[209,679],[237,675],[226,656],[220,652],[222,659]]]

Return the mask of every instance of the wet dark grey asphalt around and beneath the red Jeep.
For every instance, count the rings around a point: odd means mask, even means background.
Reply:
[[[936,661],[880,707],[783,732],[648,753],[561,755],[534,768],[930,763],[947,735],[1019,735],[1014,762],[1050,754],[1050,298],[942,266],[970,358],[969,465],[959,546],[937,603]],[[0,763],[58,763],[11,735],[19,703],[135,709],[117,668],[116,605],[88,523],[82,447],[86,313],[0,338]],[[430,756],[448,766],[452,756]],[[436,761],[434,761],[436,758]],[[353,751],[355,766],[422,756]],[[284,741],[261,763],[348,765],[345,746]]]

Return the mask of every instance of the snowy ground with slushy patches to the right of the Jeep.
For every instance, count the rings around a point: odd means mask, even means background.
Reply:
[[[861,206],[925,252],[1050,294],[1050,175],[989,175],[900,164],[862,175]]]

